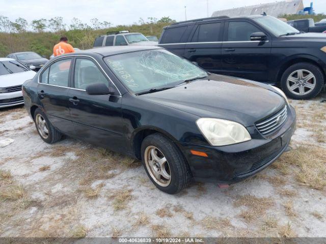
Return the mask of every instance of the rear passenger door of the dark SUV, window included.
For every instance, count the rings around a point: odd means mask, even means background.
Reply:
[[[184,57],[213,73],[222,70],[221,48],[224,21],[198,24],[185,44]]]

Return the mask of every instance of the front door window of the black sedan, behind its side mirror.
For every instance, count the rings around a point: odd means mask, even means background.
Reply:
[[[74,87],[85,90],[86,86],[98,82],[102,82],[108,86],[108,80],[97,68],[94,62],[86,58],[77,58],[74,74]]]

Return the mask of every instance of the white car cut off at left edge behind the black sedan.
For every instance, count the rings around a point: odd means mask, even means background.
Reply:
[[[35,74],[13,58],[0,57],[0,108],[23,104],[22,83]]]

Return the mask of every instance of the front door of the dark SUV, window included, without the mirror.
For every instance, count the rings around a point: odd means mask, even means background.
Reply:
[[[252,33],[263,32],[259,26],[247,20],[230,20],[225,27],[222,74],[269,82],[268,68],[272,60],[267,33],[266,41],[251,41]]]

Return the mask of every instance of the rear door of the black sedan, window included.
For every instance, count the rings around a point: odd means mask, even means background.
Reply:
[[[37,86],[38,97],[51,124],[73,134],[68,107],[68,87],[72,58],[60,58],[42,71]]]

